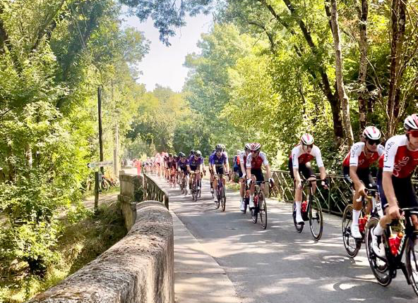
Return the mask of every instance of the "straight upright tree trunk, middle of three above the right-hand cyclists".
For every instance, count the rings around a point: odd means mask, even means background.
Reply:
[[[369,13],[369,4],[367,0],[362,1],[362,8],[359,11],[359,49],[360,49],[360,66],[359,66],[359,124],[360,132],[364,130],[367,123],[367,88],[366,88],[366,76],[367,76],[367,16]]]

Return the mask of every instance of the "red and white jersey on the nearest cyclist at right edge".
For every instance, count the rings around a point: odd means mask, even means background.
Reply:
[[[395,178],[408,178],[418,166],[418,150],[407,149],[407,136],[397,135],[386,141],[385,152],[379,158],[379,167],[390,171]]]

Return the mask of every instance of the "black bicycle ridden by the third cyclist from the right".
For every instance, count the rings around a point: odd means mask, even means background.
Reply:
[[[320,240],[322,237],[323,231],[323,216],[322,216],[322,208],[321,204],[319,204],[318,199],[314,199],[312,183],[316,181],[322,181],[321,179],[314,178],[314,179],[303,179],[302,182],[302,207],[301,207],[301,215],[304,221],[309,221],[309,227],[311,228],[312,237],[316,241]],[[309,184],[309,192],[305,192],[305,184]],[[307,197],[307,198],[306,198]],[[293,223],[294,227],[296,228],[298,233],[301,233],[304,229],[304,222],[301,224],[297,223],[296,221],[296,204],[293,204]]]

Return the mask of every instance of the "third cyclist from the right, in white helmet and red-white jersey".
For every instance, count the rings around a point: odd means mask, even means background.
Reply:
[[[304,134],[301,136],[300,143],[292,149],[289,157],[290,176],[295,184],[294,204],[296,205],[296,222],[299,224],[304,223],[304,219],[301,216],[302,183],[299,173],[302,173],[306,179],[311,177],[316,178],[311,166],[311,159],[314,159],[314,157],[321,175],[321,183],[323,187],[327,187],[325,181],[326,171],[325,166],[323,166],[321,150],[314,145],[314,137],[312,135]],[[316,182],[313,182],[312,185],[312,190],[315,193]]]

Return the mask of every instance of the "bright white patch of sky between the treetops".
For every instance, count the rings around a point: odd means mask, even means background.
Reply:
[[[154,27],[153,20],[140,23],[138,18],[133,16],[124,19],[124,26],[136,27],[150,41],[150,51],[138,66],[143,75],[137,82],[145,84],[148,91],[153,90],[158,84],[181,92],[189,71],[183,66],[186,55],[199,52],[196,44],[201,34],[209,32],[212,27],[212,16],[201,14],[193,18],[187,17],[186,26],[177,29],[177,35],[169,38],[172,44],[170,47],[160,42],[160,34]]]

